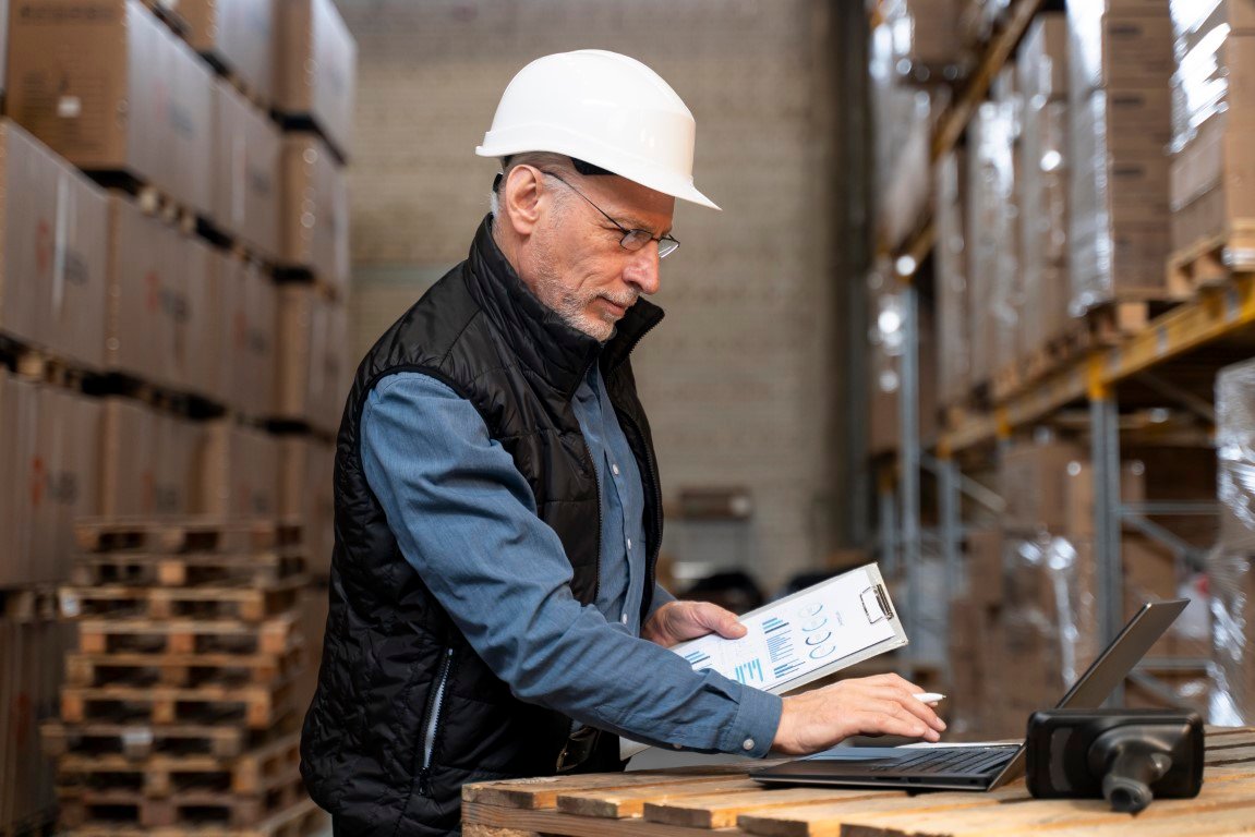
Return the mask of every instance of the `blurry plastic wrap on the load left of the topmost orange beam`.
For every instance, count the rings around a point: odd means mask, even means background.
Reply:
[[[881,25],[871,34],[868,59],[878,238],[900,245],[919,225],[927,206],[934,95],[906,85],[894,63],[894,31]]]

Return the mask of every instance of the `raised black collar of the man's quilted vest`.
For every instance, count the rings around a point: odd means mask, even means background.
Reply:
[[[467,286],[476,302],[510,340],[518,359],[567,400],[589,365],[601,354],[601,366],[612,371],[663,319],[663,309],[638,299],[619,320],[614,336],[602,346],[596,339],[562,321],[523,284],[492,237],[492,216],[486,216],[471,245]]]

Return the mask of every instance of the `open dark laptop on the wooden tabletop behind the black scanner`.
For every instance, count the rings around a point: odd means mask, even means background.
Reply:
[[[1188,599],[1143,605],[1055,709],[1097,709],[1181,615]],[[1025,744],[838,747],[750,770],[756,782],[842,788],[993,791],[1024,773]]]

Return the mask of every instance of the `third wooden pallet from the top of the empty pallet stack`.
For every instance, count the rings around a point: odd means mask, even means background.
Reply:
[[[61,614],[70,619],[136,616],[139,619],[238,619],[260,622],[296,606],[305,576],[290,576],[269,587],[61,587]]]

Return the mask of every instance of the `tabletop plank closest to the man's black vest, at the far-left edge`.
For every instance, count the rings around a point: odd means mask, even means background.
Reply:
[[[779,764],[762,762],[757,765]],[[587,791],[630,789],[659,787],[684,782],[723,782],[728,777],[743,777],[744,764],[708,764],[669,770],[639,770],[633,773],[594,773],[581,776],[542,776],[533,779],[508,779],[481,782],[462,788],[463,803],[483,803],[507,808],[556,808],[560,793]]]

